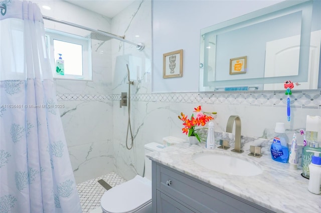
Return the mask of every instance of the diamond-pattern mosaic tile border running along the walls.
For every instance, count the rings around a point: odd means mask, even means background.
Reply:
[[[254,106],[286,106],[283,91],[215,91],[131,94],[133,101],[235,104]],[[120,94],[59,94],[58,101],[70,100],[120,100]],[[291,106],[298,108],[320,108],[321,90],[292,91]]]

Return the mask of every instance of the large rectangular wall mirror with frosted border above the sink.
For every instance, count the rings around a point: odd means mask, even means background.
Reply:
[[[282,1],[201,29],[200,91],[317,89],[321,1]]]

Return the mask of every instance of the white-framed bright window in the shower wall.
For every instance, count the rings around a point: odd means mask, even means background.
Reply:
[[[90,39],[46,29],[46,41],[54,78],[91,80]],[[56,72],[56,60],[61,54],[64,74]]]

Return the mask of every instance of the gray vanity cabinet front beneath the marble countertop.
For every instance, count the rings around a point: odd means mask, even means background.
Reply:
[[[273,212],[155,161],[152,161],[152,208],[157,213]]]

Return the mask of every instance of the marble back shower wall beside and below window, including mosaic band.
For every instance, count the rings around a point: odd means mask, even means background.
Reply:
[[[114,170],[108,123],[112,100],[99,98],[112,90],[111,44],[101,42],[92,40],[92,81],[55,79],[58,101],[65,105],[60,113],[77,183]]]

